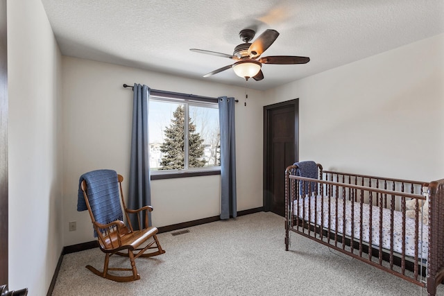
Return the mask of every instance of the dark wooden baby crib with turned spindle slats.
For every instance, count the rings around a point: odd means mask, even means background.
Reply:
[[[436,295],[444,279],[444,179],[417,182],[317,167],[317,179],[298,176],[296,164],[285,171],[285,249],[289,232],[296,232]],[[426,200],[428,212],[421,207]],[[415,206],[413,218],[406,215],[407,201]]]

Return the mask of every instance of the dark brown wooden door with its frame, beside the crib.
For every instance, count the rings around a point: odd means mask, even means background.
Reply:
[[[285,215],[285,168],[298,160],[298,99],[264,107],[264,210]]]

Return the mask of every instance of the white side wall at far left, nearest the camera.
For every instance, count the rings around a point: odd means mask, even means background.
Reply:
[[[8,6],[8,288],[46,295],[62,252],[61,55],[40,0]]]

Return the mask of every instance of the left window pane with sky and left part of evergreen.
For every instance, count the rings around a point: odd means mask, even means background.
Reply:
[[[149,104],[151,171],[185,168],[184,105],[153,100]]]

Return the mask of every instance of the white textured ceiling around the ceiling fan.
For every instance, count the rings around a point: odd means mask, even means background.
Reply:
[[[194,79],[269,89],[444,33],[443,0],[42,0],[63,55]],[[239,31],[280,33],[262,56],[302,55],[308,64],[264,64],[264,80],[232,69]],[[415,57],[412,57],[415,58]],[[126,81],[133,83],[132,81]]]

